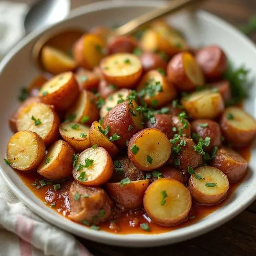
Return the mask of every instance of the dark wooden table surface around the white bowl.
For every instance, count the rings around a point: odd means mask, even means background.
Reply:
[[[19,2],[32,3],[33,0],[19,0]],[[76,8],[96,0],[71,0],[71,2],[72,8]],[[256,15],[256,0],[208,0],[202,5],[202,9],[220,16],[239,28],[246,24],[250,17]],[[250,37],[256,43],[256,30]],[[256,201],[223,226],[195,239],[174,245],[126,248],[78,239],[95,256],[256,255]]]

